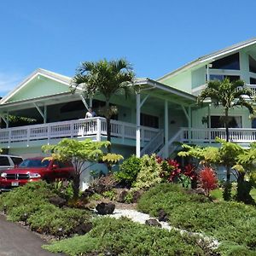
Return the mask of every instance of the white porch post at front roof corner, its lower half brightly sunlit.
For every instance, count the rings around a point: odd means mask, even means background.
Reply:
[[[136,95],[136,156],[141,157],[141,94]]]

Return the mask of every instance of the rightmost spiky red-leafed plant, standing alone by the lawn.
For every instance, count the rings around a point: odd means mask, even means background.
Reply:
[[[205,166],[198,175],[198,185],[204,189],[205,195],[209,195],[212,189],[217,188],[217,177],[211,167]]]

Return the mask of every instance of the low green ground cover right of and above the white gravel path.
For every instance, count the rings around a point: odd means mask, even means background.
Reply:
[[[212,202],[175,184],[160,183],[143,194],[138,209],[152,216],[163,209],[170,224],[217,238],[222,242],[221,252],[227,255],[234,249],[256,254],[255,207],[238,202]]]

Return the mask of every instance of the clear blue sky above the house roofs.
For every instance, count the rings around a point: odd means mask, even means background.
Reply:
[[[0,96],[38,67],[125,57],[157,79],[256,37],[255,0],[8,0],[0,3]]]

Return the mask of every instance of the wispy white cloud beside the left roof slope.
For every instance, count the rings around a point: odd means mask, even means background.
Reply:
[[[13,90],[24,76],[18,73],[0,72],[0,96],[5,96],[10,90]]]

